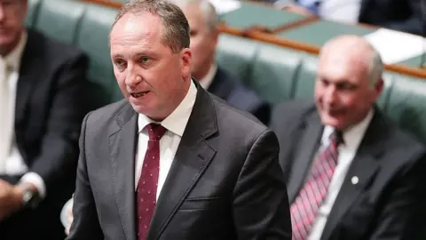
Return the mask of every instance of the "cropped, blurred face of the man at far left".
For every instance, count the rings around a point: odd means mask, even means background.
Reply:
[[[0,54],[9,53],[20,41],[27,0],[0,0]]]

